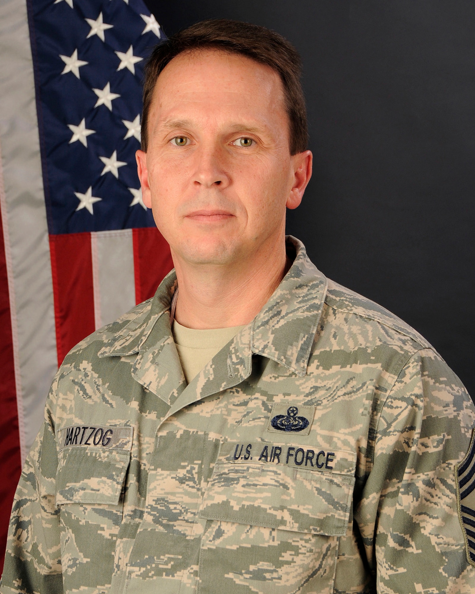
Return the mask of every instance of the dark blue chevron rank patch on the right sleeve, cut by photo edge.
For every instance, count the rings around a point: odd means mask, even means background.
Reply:
[[[458,515],[465,536],[467,561],[475,567],[475,429],[471,434],[470,448],[462,462],[455,466],[457,482]]]

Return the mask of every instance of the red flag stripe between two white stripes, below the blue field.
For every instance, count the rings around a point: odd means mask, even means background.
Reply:
[[[93,262],[90,233],[50,235],[58,365],[94,332]]]

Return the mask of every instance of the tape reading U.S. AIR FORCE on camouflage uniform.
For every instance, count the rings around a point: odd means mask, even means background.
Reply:
[[[307,470],[353,474],[356,452],[337,451],[327,447],[273,444],[265,441],[221,444],[218,462],[284,465]]]

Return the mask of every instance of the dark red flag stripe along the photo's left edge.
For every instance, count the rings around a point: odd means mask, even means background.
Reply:
[[[0,229],[2,215],[0,213]],[[17,391],[13,362],[10,301],[3,235],[0,236],[0,573],[4,566],[8,522],[13,496],[21,473],[20,434],[18,432]]]

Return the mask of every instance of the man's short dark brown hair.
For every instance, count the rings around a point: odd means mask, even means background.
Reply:
[[[145,65],[142,150],[147,151],[148,112],[160,72],[179,53],[208,48],[242,54],[280,75],[289,116],[290,154],[304,151],[308,143],[308,128],[305,97],[300,84],[302,62],[299,53],[276,31],[227,19],[201,21],[154,48]]]

